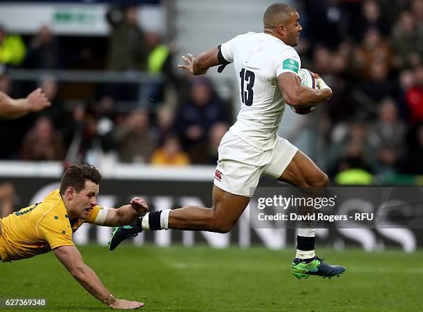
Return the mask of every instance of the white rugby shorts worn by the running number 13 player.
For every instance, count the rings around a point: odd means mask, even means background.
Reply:
[[[214,184],[223,191],[252,197],[260,177],[281,177],[297,150],[296,146],[281,137],[277,138],[274,148],[260,150],[229,130],[218,148]]]

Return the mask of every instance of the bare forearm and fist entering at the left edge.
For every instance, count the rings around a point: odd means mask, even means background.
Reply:
[[[25,99],[12,99],[6,93],[0,91],[0,117],[5,119],[15,119],[28,113],[42,110],[50,106],[41,88],[30,92]]]

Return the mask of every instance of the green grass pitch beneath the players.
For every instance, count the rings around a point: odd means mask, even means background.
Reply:
[[[346,266],[347,272],[331,280],[314,276],[297,280],[290,273],[292,248],[216,250],[126,244],[113,252],[96,245],[80,250],[117,298],[140,300],[144,311],[423,309],[422,251],[319,249],[321,257]],[[0,264],[0,298],[47,298],[50,311],[108,309],[86,293],[52,253]]]

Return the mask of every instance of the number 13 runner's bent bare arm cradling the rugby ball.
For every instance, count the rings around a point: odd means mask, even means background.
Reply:
[[[312,89],[302,86],[301,79],[291,72],[279,75],[278,84],[283,99],[290,106],[308,107],[310,104],[326,101],[332,96],[330,88]]]

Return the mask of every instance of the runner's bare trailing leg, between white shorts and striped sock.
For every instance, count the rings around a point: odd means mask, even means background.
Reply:
[[[234,195],[213,186],[213,207],[186,206],[169,213],[169,228],[227,233],[236,224],[250,197]]]

